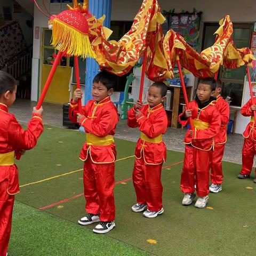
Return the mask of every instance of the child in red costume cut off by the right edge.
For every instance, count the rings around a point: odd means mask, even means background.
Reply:
[[[254,98],[256,102],[256,98]],[[238,179],[250,178],[252,171],[253,159],[256,154],[256,125],[253,116],[253,112],[256,111],[256,105],[252,105],[252,100],[250,99],[241,109],[241,114],[243,116],[251,116],[251,122],[247,124],[246,129],[243,133],[244,146],[242,149],[242,170],[238,174]],[[255,169],[256,174],[256,169]],[[256,183],[256,177],[253,180]]]

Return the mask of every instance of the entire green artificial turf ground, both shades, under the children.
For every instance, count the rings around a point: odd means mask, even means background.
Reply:
[[[14,208],[11,256],[147,255],[137,248],[156,255],[255,255],[252,179],[238,180],[241,166],[223,163],[223,189],[210,195],[209,208],[184,207],[179,187],[183,154],[174,151],[167,152],[162,171],[164,214],[147,219],[131,211],[136,202],[130,180],[132,157],[116,163],[115,180],[124,181],[115,187],[116,228],[107,235],[94,235],[94,225],[78,226],[85,214],[83,163],[78,159],[84,139],[84,133],[46,126],[37,147],[17,163],[21,193]],[[134,154],[134,142],[115,141],[118,159]],[[44,180],[50,177],[55,178]],[[21,203],[45,207],[45,212]]]

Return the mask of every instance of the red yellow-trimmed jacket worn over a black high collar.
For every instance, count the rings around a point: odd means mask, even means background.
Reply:
[[[215,99],[215,98],[214,98]],[[189,109],[192,111],[192,119],[204,122],[209,125],[209,128],[205,130],[193,129],[192,137],[190,136],[191,127],[188,129],[184,143],[189,144],[195,148],[201,150],[211,150],[214,143],[214,136],[218,134],[220,130],[220,113],[215,107],[215,100],[209,101],[208,105],[204,108],[198,108],[196,100],[189,102]],[[185,113],[179,115],[179,122],[186,126],[188,119],[185,118]]]

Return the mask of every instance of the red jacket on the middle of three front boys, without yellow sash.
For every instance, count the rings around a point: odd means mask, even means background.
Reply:
[[[167,115],[162,104],[149,108],[149,105],[142,106],[140,109],[141,115],[135,116],[134,107],[127,112],[129,127],[139,127],[149,139],[158,137],[164,134],[167,129]],[[144,158],[147,164],[161,164],[166,160],[166,146],[165,143],[151,143],[142,140],[138,140],[135,149],[136,158]]]

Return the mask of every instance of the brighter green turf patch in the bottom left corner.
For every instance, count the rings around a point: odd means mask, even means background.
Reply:
[[[15,202],[9,256],[131,255],[149,253],[109,236]]]

